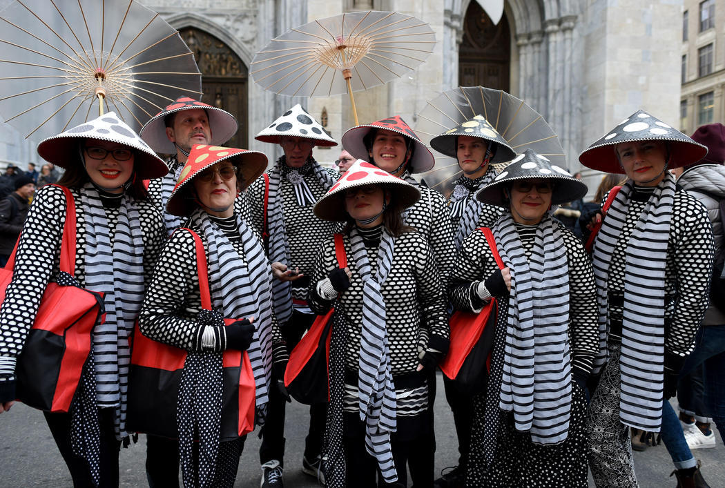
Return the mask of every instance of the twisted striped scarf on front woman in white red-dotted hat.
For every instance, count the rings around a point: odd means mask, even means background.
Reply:
[[[357,228],[350,231],[350,247],[363,281],[363,328],[360,338],[360,420],[365,422],[365,446],[378,461],[386,483],[397,481],[391,433],[397,429],[397,400],[390,370],[390,349],[386,332],[386,309],[381,286],[393,262],[394,238],[383,231],[378,247],[377,270],[368,261],[368,251]]]

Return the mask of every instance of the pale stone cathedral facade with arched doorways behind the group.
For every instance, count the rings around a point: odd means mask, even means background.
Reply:
[[[240,131],[228,144],[279,151],[254,135],[294,103],[339,140],[354,125],[347,95],[277,96],[250,77],[271,38],[317,18],[391,10],[428,22],[436,47],[415,71],[356,92],[360,123],[402,115],[415,127],[426,101],[455,86],[501,88],[537,109],[560,136],[570,170],[579,152],[645,108],[677,125],[682,0],[505,0],[497,25],[476,0],[139,0],[178,29],[204,75],[204,102],[232,112]],[[9,0],[0,0],[0,7]],[[37,161],[35,143],[0,126],[0,165]],[[338,149],[318,149],[333,161]],[[584,173],[588,175],[588,172]],[[591,175],[590,186],[596,176]]]

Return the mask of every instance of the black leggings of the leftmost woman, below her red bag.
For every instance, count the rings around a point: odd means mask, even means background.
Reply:
[[[63,456],[70,476],[73,479],[73,486],[94,487],[91,470],[88,468],[86,460],[73,453],[70,444],[70,413],[48,413],[43,412],[50,428],[53,439]],[[116,440],[115,434],[115,409],[99,408],[98,420],[101,428],[101,452],[100,452],[100,472],[101,487],[117,487],[118,486],[118,452],[121,443]]]

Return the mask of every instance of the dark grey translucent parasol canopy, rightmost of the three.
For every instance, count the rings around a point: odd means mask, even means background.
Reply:
[[[444,91],[418,114],[415,133],[430,145],[431,138],[456,128],[476,115],[483,115],[517,152],[533,149],[553,165],[566,168],[566,155],[559,137],[539,112],[526,102],[502,90],[483,86],[459,86]],[[497,165],[494,165],[497,166]],[[502,165],[501,165],[502,167]],[[461,174],[455,158],[439,155],[436,167],[421,174],[428,186],[449,194]]]

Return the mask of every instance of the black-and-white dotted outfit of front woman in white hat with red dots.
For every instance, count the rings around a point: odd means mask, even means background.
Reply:
[[[379,243],[365,241],[368,260],[377,268]],[[344,236],[348,267],[352,273],[349,289],[336,301],[321,298],[315,285],[337,268],[334,239],[329,237],[319,249],[319,257],[310,285],[310,307],[315,313],[326,313],[331,306],[333,339],[331,345],[331,407],[326,429],[328,451],[328,486],[344,486],[344,456],[342,437],[351,423],[360,421],[357,405],[357,371],[359,368],[361,324],[363,321],[363,281],[352,259],[349,235]],[[409,231],[394,239],[391,269],[381,286],[386,305],[386,331],[389,342],[389,363],[397,397],[397,432],[394,439],[416,439],[429,432],[428,385],[426,376],[416,372],[419,354],[434,341],[447,342],[449,337],[444,289],[435,258],[426,239]],[[360,442],[363,442],[360,438]],[[397,466],[399,473],[404,466]],[[415,481],[415,480],[414,480]],[[342,484],[340,484],[342,483]]]

